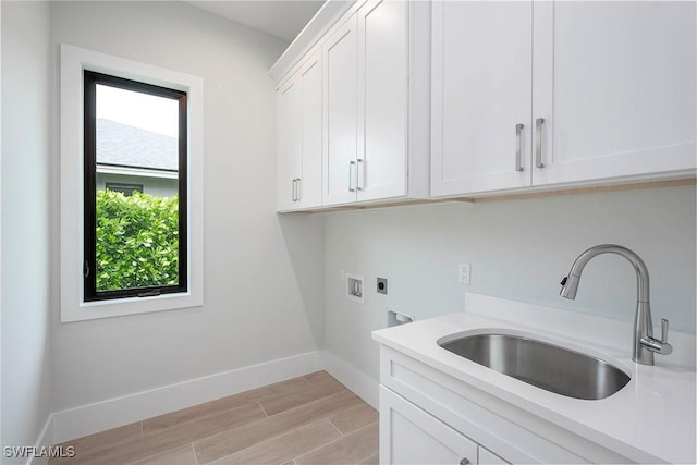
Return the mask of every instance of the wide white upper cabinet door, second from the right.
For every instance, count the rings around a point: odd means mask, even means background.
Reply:
[[[530,182],[533,3],[433,1],[431,195]]]

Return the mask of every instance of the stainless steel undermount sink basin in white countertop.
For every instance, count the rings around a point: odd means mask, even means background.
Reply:
[[[473,334],[439,345],[492,370],[568,397],[606,399],[629,382],[627,374],[604,360],[518,335]]]

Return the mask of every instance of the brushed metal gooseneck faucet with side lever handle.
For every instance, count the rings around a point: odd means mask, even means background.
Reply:
[[[634,348],[632,359],[641,365],[653,365],[653,353],[668,355],[673,352],[673,346],[668,343],[668,320],[661,319],[661,340],[653,339],[653,323],[651,321],[651,304],[649,303],[649,271],[644,260],[634,252],[621,245],[602,244],[590,247],[576,258],[568,271],[568,276],[561,282],[562,297],[575,299],[580,273],[591,258],[600,254],[617,254],[626,258],[637,279],[636,315],[634,316]]]

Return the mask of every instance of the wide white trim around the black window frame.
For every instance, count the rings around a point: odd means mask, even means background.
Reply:
[[[188,94],[188,292],[84,302],[83,70]],[[61,322],[204,305],[204,82],[200,77],[61,45]]]

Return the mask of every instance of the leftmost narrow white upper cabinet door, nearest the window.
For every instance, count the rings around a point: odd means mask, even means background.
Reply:
[[[297,208],[297,179],[302,171],[301,90],[294,78],[277,90],[277,208]]]

